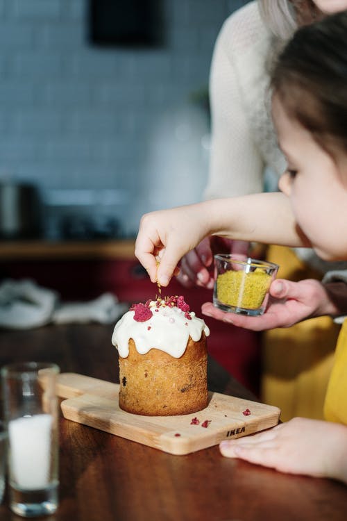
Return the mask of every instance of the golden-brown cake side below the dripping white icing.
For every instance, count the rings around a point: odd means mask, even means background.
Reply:
[[[137,352],[130,338],[129,354],[119,356],[119,406],[128,413],[171,416],[196,413],[208,406],[205,333],[194,342],[189,336],[180,358],[153,347]]]

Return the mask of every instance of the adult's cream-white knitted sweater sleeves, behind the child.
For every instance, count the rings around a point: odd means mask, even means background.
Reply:
[[[285,171],[271,120],[269,90],[271,62],[282,45],[264,25],[257,1],[224,22],[210,71],[212,146],[205,199],[262,192],[266,167],[278,178]],[[347,269],[346,262],[326,263],[312,249],[295,252],[322,275]]]

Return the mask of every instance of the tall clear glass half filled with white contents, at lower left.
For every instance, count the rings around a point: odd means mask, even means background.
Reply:
[[[58,373],[52,363],[1,369],[10,508],[24,517],[48,515],[58,507]]]

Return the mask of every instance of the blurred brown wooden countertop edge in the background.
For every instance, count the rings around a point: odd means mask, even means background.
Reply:
[[[0,242],[0,262],[49,259],[91,260],[135,258],[135,240],[94,240],[51,242],[18,240]]]

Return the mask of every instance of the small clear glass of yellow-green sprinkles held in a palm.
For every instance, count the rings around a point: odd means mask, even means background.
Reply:
[[[262,315],[278,265],[230,254],[214,256],[213,304],[222,311]]]

